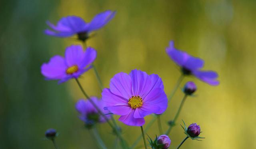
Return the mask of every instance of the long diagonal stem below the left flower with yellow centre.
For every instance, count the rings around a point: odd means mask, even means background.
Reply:
[[[110,127],[115,130],[117,132],[118,137],[121,140],[122,143],[122,147],[126,148],[126,143],[124,142],[124,139],[122,138],[122,135],[120,134],[120,132],[118,131],[118,129],[116,127],[114,127],[112,125],[112,123],[110,123],[110,121],[108,121],[108,118],[106,117],[106,115],[104,115],[102,113],[102,111],[99,109],[99,107],[92,101],[92,99],[86,94],[86,92],[84,91],[82,85],[80,84],[80,82],[78,81],[78,79],[76,79],[76,82],[78,84],[78,86],[80,87],[82,93],[84,94],[84,96],[88,99],[88,101],[90,101],[90,103],[92,103],[92,105],[95,107],[95,109],[98,111],[98,113],[106,120],[106,122],[108,123],[108,125],[110,125]]]

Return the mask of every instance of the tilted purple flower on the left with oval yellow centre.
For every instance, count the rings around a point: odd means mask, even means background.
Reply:
[[[50,62],[41,66],[41,73],[46,79],[58,79],[63,83],[71,78],[78,78],[92,68],[91,64],[96,58],[96,50],[88,47],[84,52],[82,46],[72,45],[66,48],[65,58],[54,56]]]

